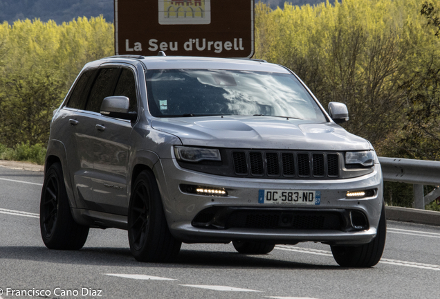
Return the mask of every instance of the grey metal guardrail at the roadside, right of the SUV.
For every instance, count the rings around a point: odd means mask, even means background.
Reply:
[[[414,185],[414,208],[425,209],[425,205],[440,197],[440,188],[423,194],[423,185],[440,185],[440,162],[412,160],[407,158],[378,157],[383,180]]]

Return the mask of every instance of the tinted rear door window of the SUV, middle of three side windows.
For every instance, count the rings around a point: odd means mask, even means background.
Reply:
[[[119,71],[120,69],[100,69],[98,78],[96,78],[91,89],[86,110],[99,112],[102,100],[108,96],[113,96],[114,81]]]

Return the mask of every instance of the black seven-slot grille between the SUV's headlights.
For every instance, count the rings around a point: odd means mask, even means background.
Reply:
[[[232,163],[237,176],[304,179],[339,176],[336,152],[233,150]]]

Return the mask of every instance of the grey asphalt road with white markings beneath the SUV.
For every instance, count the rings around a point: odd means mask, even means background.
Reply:
[[[175,263],[148,264],[131,256],[124,230],[93,229],[80,251],[48,250],[42,183],[42,172],[0,167],[0,298],[440,298],[439,227],[388,221],[371,269],[342,268],[314,243],[268,255],[183,244]]]

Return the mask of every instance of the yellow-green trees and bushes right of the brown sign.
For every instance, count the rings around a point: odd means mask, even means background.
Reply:
[[[345,128],[379,154],[440,160],[440,39],[422,8],[419,0],[260,3],[256,57],[295,71],[324,107],[344,102]]]

